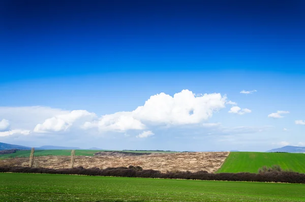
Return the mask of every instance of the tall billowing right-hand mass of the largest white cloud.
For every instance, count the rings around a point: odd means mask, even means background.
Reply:
[[[136,119],[154,124],[198,124],[224,108],[226,99],[219,93],[195,97],[189,90],[176,93],[173,97],[160,93],[135,109],[133,115]]]

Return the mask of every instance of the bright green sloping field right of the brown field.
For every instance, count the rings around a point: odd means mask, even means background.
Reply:
[[[305,154],[230,152],[217,172],[257,172],[264,165],[280,165],[285,170],[305,173]]]

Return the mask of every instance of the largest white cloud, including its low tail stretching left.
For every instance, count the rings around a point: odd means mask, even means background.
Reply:
[[[183,90],[174,96],[160,93],[151,96],[143,106],[133,111],[106,114],[98,121],[86,122],[84,129],[99,128],[100,131],[142,130],[147,125],[199,124],[225,107],[226,96],[219,93],[194,95]]]

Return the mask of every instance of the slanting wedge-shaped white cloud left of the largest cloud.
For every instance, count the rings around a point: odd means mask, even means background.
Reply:
[[[74,122],[81,118],[94,118],[95,113],[90,113],[86,110],[73,110],[64,114],[57,115],[55,117],[46,119],[42,124],[38,124],[34,128],[34,132],[60,132],[70,128]]]

